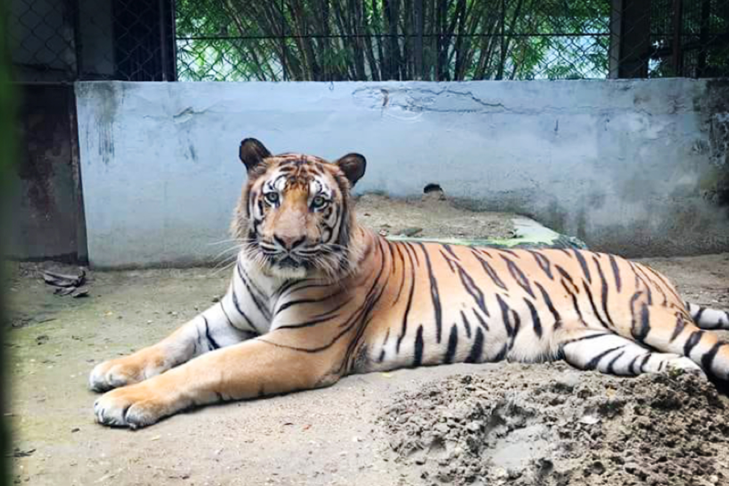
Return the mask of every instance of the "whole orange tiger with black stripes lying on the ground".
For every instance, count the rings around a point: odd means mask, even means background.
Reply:
[[[383,238],[356,221],[362,154],[273,155],[254,138],[227,293],[164,340],[90,373],[106,426],[457,362],[562,359],[612,375],[729,379],[729,313],[684,302],[639,262],[571,248]]]

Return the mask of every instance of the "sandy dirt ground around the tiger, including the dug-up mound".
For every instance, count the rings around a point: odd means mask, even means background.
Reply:
[[[396,220],[376,213],[376,200],[370,206],[359,211],[374,216],[362,219],[390,224],[392,234],[493,234],[486,223],[469,233],[470,218],[480,221],[472,213],[458,219],[444,209],[437,219],[425,205],[418,211],[431,216],[395,208]],[[729,254],[644,262],[687,299],[729,307]],[[98,426],[86,386],[94,364],[159,340],[211,305],[228,271],[95,272],[89,295],[74,299],[52,294],[38,277],[42,265],[10,267],[11,413],[3,420],[15,431],[17,484],[729,484],[729,402],[703,380],[621,380],[559,363],[356,375],[139,431]]]

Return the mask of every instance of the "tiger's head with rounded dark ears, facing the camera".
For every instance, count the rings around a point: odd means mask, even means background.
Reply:
[[[353,270],[361,250],[350,189],[364,175],[364,157],[272,155],[254,138],[241,142],[240,157],[248,181],[232,231],[246,257],[278,278],[334,279]]]

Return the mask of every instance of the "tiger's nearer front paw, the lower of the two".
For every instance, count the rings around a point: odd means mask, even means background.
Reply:
[[[174,413],[171,401],[147,383],[104,393],[94,402],[96,421],[104,426],[139,428],[151,426]]]

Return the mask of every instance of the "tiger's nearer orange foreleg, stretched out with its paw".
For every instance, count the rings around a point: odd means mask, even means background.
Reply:
[[[276,345],[275,334],[206,353],[163,375],[109,391],[94,404],[96,420],[138,428],[188,407],[307,390],[338,380],[331,374],[336,352]]]

